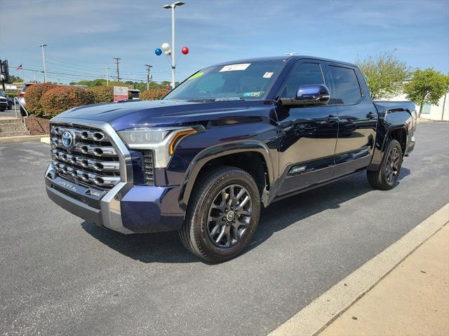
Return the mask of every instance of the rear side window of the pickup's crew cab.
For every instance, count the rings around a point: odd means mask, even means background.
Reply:
[[[361,99],[360,85],[353,69],[330,65],[329,71],[335,87],[329,104],[355,104]]]

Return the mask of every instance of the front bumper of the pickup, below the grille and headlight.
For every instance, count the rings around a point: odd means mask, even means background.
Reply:
[[[179,186],[132,186],[111,190],[86,188],[61,179],[51,165],[45,175],[48,197],[75,216],[123,234],[178,230],[184,211]]]

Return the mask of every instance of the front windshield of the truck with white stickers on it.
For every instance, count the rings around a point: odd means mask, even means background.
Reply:
[[[282,61],[211,66],[187,78],[163,99],[213,102],[264,99],[282,66]]]

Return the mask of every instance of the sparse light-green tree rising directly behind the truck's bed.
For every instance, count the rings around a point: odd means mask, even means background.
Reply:
[[[394,51],[357,59],[356,64],[365,77],[373,100],[396,96],[403,90],[411,72],[410,67],[394,55]]]

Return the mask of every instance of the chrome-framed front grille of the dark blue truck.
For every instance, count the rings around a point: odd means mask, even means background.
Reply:
[[[63,144],[65,131],[72,136],[70,146]],[[50,137],[53,169],[62,179],[98,189],[119,183],[119,155],[105,132],[81,125],[51,125]]]

